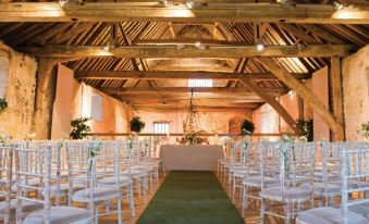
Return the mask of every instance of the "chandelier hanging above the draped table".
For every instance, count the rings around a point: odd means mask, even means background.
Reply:
[[[188,111],[187,111],[187,117],[186,121],[183,124],[183,130],[185,134],[188,133],[197,133],[199,132],[200,128],[200,120],[197,114],[197,108],[195,104],[195,99],[194,99],[194,89],[190,89],[190,98],[189,98],[189,105],[188,105]]]

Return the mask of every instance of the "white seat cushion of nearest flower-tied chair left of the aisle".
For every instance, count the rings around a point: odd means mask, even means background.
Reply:
[[[73,195],[72,200],[79,202],[89,202],[89,189],[83,189],[76,191]],[[118,189],[113,187],[96,187],[94,188],[94,195],[91,196],[94,201],[101,201],[118,197],[121,197],[121,194]]]

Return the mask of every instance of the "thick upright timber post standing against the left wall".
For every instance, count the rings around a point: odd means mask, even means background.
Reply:
[[[34,114],[36,139],[48,139],[51,135],[52,96],[56,88],[52,83],[52,67],[54,64],[54,59],[39,59]]]

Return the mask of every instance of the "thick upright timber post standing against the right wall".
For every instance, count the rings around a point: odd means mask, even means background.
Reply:
[[[343,113],[342,73],[341,60],[337,57],[331,58],[330,82],[333,102],[333,114],[337,123],[337,132],[334,134],[334,140],[344,141],[345,129]]]

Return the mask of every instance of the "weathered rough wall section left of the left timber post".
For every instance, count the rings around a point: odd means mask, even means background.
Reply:
[[[0,73],[2,77],[8,75],[8,109],[0,113],[0,134],[24,139],[32,132],[36,72],[35,58],[17,53],[0,41]]]

